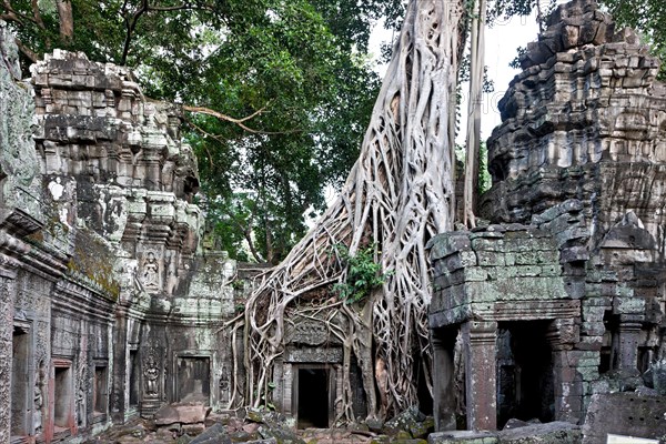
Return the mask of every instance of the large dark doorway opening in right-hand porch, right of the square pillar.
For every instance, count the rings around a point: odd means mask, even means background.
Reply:
[[[512,417],[555,416],[553,353],[546,339],[547,321],[500,323],[497,335],[497,426]]]

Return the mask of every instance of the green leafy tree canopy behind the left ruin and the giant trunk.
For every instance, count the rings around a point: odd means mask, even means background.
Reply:
[[[355,161],[379,79],[371,24],[400,0],[6,0],[23,68],[54,48],[131,67],[181,101],[210,228],[276,262]],[[27,72],[27,71],[26,71]],[[245,259],[241,255],[240,259]]]

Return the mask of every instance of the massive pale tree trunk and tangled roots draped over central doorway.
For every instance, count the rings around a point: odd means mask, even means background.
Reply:
[[[462,13],[457,1],[407,6],[360,159],[340,196],[287,258],[260,276],[248,302],[246,403],[259,405],[269,394],[285,323],[295,313],[323,320],[343,343],[339,420],[354,420],[352,355],[362,370],[369,416],[386,417],[417,404],[418,364],[430,384],[425,243],[453,225],[451,113]],[[366,301],[346,305],[331,291],[346,278],[340,244],[351,255],[376,245],[375,259],[389,274]],[[340,315],[351,322],[333,322]]]

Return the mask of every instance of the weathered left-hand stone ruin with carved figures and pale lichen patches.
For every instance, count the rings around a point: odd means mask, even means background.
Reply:
[[[3,23],[0,48],[0,441],[226,407],[235,262],[200,248],[182,111],[81,53],[22,83]]]

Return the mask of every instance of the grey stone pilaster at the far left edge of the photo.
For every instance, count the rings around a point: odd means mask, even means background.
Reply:
[[[16,268],[12,260],[0,255],[0,443],[9,443],[11,434],[11,365]]]

